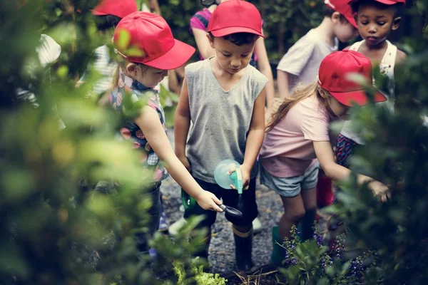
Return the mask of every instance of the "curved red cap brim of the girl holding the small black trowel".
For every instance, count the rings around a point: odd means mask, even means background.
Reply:
[[[163,70],[171,70],[179,68],[186,63],[193,53],[195,53],[195,48],[189,46],[187,43],[178,41],[174,38],[175,44],[167,53],[163,56],[155,58],[151,61],[138,61],[136,58],[128,58],[129,61],[143,63],[146,66],[151,66],[154,68],[159,68]]]

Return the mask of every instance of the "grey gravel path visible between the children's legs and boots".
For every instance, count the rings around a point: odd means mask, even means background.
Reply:
[[[173,130],[168,130],[168,136],[173,143]],[[271,228],[277,224],[282,215],[282,202],[280,196],[272,190],[258,182],[256,188],[258,203],[258,218],[262,222],[263,230],[253,236],[253,261],[256,265],[262,266],[269,263],[270,252],[272,251]],[[179,211],[181,204],[180,187],[172,179],[168,178],[161,187],[164,195],[165,214],[168,222],[173,222],[183,216]],[[224,214],[218,214],[213,226],[213,237],[210,244],[209,261],[212,271],[216,273],[227,273],[237,270],[235,267],[235,244],[231,224],[225,219]]]

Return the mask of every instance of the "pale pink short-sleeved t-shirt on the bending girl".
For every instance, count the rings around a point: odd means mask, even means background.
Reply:
[[[295,177],[315,164],[313,141],[330,141],[332,117],[315,96],[297,103],[285,118],[265,135],[260,162],[276,177]]]

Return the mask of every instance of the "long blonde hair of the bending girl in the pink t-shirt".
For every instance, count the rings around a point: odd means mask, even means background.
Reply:
[[[312,83],[308,86],[298,86],[290,98],[285,98],[278,110],[272,114],[270,123],[267,124],[266,132],[270,132],[273,128],[275,128],[275,125],[280,123],[280,121],[285,118],[285,115],[287,115],[288,111],[290,111],[291,108],[293,108],[297,103],[312,96],[317,96],[322,110],[327,108],[327,99],[330,97],[330,93],[328,93],[327,90],[322,89],[317,83]]]

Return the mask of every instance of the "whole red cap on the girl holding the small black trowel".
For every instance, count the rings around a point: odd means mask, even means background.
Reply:
[[[121,38],[123,31],[128,36]],[[182,66],[195,53],[193,46],[173,38],[161,16],[141,11],[121,19],[114,30],[113,42],[126,60],[164,70]]]

